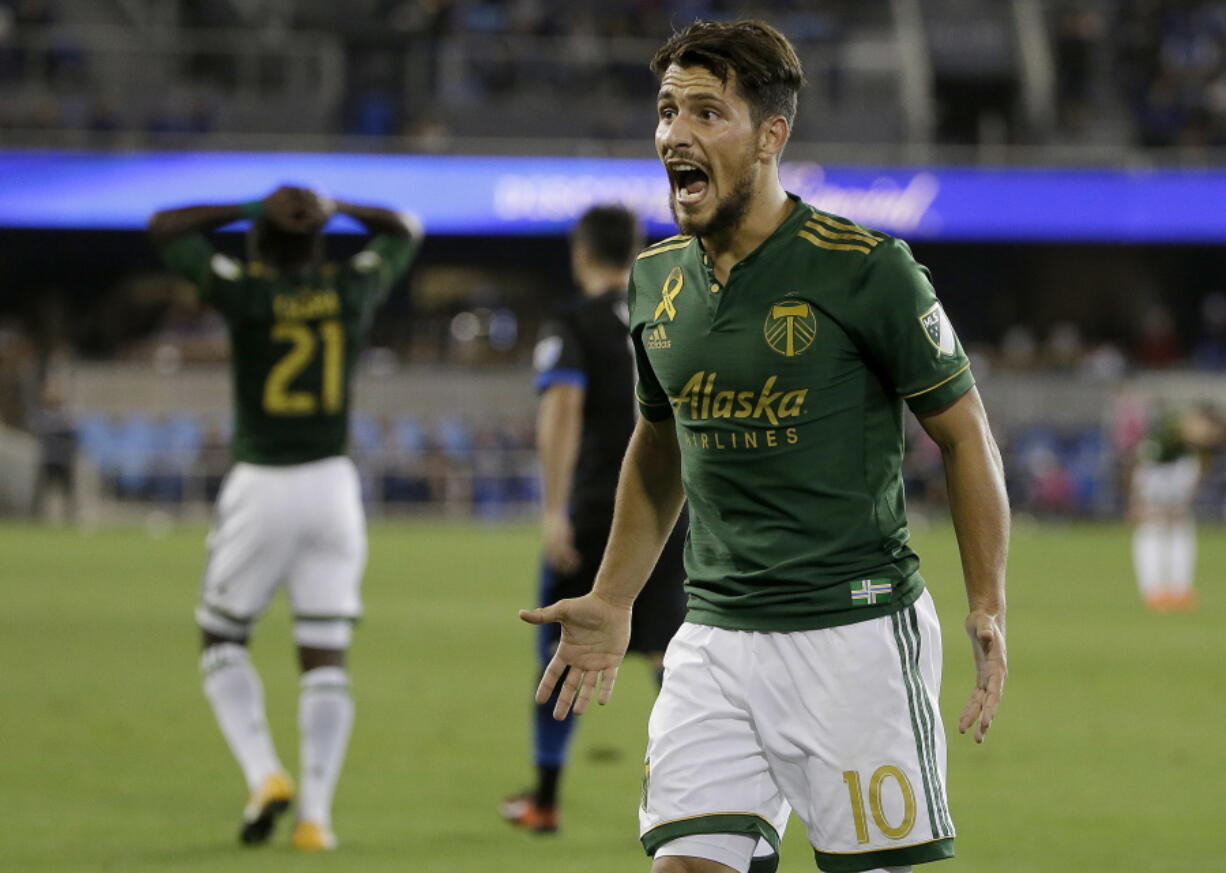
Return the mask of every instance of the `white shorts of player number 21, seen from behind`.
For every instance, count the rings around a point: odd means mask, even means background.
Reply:
[[[235,463],[217,499],[196,620],[218,636],[246,639],[284,585],[298,645],[346,649],[362,612],[365,563],[353,461]]]

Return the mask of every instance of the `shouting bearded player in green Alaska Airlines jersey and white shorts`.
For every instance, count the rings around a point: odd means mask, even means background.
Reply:
[[[642,411],[591,593],[537,689],[607,703],[635,595],[688,500],[689,611],[649,726],[653,873],[772,871],[790,810],[823,871],[953,855],[940,630],[908,546],[902,416],[942,449],[982,741],[1005,679],[1009,510],[966,356],[906,244],[787,194],[803,72],[777,31],[695,22],[651,67],[680,235],[630,280]],[[563,678],[565,677],[565,678]]]

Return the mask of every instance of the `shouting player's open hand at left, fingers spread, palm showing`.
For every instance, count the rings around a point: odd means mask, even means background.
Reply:
[[[539,609],[520,609],[528,624],[562,623],[562,641],[537,685],[536,700],[543,704],[553,694],[563,673],[566,678],[553,707],[562,721],[571,706],[582,715],[592,695],[603,706],[613,696],[617,671],[630,644],[630,609],[596,593],[560,600]],[[568,669],[569,668],[569,669]]]

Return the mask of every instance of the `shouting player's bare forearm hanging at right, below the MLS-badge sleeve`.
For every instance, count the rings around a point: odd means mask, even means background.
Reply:
[[[1000,451],[984,421],[982,428],[942,445],[942,454],[967,603],[971,612],[996,616],[1003,623],[1009,498]]]

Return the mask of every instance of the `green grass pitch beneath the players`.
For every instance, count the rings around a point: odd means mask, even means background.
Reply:
[[[564,831],[501,823],[527,785],[535,591],[526,526],[371,531],[358,704],[336,803],[342,850],[234,842],[244,788],[200,690],[191,620],[200,528],[0,527],[0,871],[646,872],[635,839],[652,684],[631,665],[584,716]],[[945,625],[946,723],[970,690],[948,528],[916,537]],[[1024,527],[1010,562],[1010,666],[988,742],[950,738],[959,857],[944,873],[1221,869],[1226,533],[1201,532],[1201,608],[1138,604],[1122,527]],[[253,644],[295,760],[284,604]],[[814,869],[793,823],[783,873]]]

